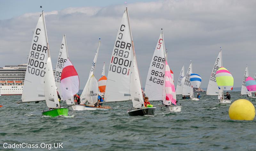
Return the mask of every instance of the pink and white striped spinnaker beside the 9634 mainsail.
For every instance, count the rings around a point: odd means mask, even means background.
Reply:
[[[171,105],[171,102],[173,105],[176,105],[176,92],[175,92],[175,87],[170,71],[170,67],[165,61],[165,75],[164,75],[164,80],[165,80],[165,95],[166,99],[164,100],[164,105]]]

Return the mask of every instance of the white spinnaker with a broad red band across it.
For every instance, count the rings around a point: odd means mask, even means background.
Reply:
[[[69,59],[65,62],[62,69],[60,87],[63,100],[72,98],[79,91],[79,77]]]

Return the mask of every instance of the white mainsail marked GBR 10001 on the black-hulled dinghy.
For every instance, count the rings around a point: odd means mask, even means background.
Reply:
[[[125,10],[110,59],[105,102],[131,100],[131,53],[133,53],[132,35],[128,12]]]

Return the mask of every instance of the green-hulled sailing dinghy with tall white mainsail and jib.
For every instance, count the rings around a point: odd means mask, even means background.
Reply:
[[[60,108],[57,99],[57,89],[53,77],[44,11],[40,14],[34,31],[21,101],[18,103],[39,101],[46,101],[46,105],[52,109],[43,112],[43,115],[51,117],[68,115],[68,109]]]

